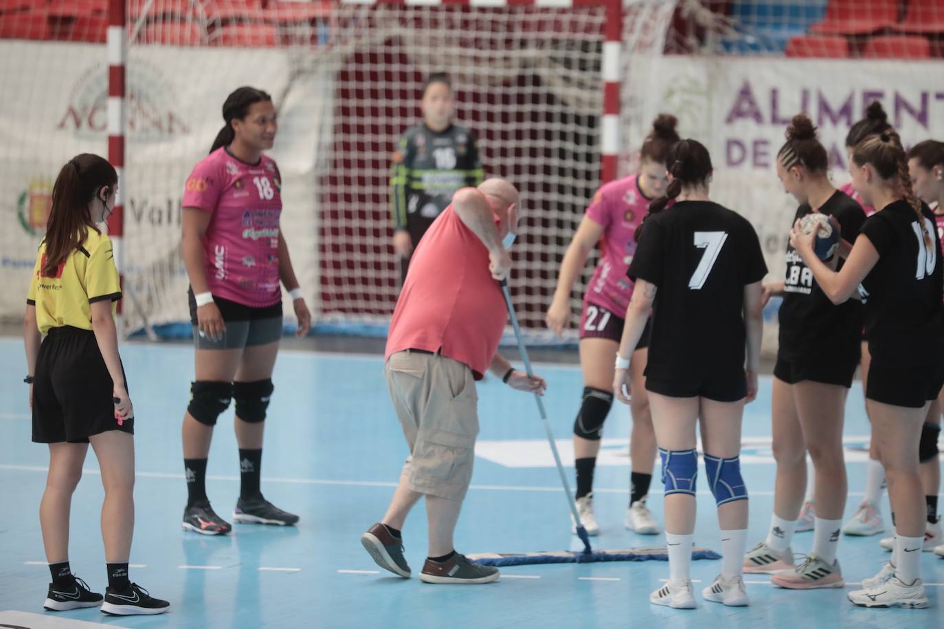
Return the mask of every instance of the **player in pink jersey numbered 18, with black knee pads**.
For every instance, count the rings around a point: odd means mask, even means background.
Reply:
[[[195,372],[183,420],[187,506],[183,528],[225,535],[231,526],[213,511],[206,491],[213,425],[235,400],[240,497],[233,512],[245,523],[292,525],[298,516],[262,497],[260,468],[265,411],[282,334],[279,282],[293,300],[296,336],[312,315],[279,229],[281,175],[271,157],[278,124],[272,98],[243,87],[223,104],[226,126],[210,155],[187,179],[182,249],[190,278]]]

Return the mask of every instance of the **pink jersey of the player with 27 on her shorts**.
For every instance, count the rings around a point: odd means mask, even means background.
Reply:
[[[583,295],[584,305],[606,308],[620,319],[626,316],[632,297],[632,281],[626,272],[636,253],[634,232],[650,201],[639,190],[635,174],[605,184],[594,195],[586,215],[603,226],[603,241],[597,270]]]

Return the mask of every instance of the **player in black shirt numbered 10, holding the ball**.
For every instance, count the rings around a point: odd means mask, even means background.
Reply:
[[[924,505],[918,473],[921,424],[944,384],[944,280],[934,215],[915,196],[895,131],[860,142],[852,186],[881,209],[868,218],[838,272],[818,259],[814,234],[795,223],[790,242],[827,297],[847,301],[861,284],[871,364],[866,404],[872,438],[888,479],[895,551],[882,571],[852,591],[863,606],[925,607],[920,579]]]

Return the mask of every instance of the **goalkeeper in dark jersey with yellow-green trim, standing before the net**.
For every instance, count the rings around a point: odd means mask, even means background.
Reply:
[[[484,178],[475,134],[452,124],[456,99],[447,74],[430,74],[420,107],[423,122],[396,143],[390,177],[394,251],[404,278],[413,248],[453,193]]]

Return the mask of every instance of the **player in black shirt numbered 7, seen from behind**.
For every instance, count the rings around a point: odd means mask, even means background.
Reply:
[[[668,153],[666,196],[649,205],[628,275],[635,282],[616,356],[614,392],[628,404],[629,359],[652,310],[646,389],[666,486],[670,578],[649,602],[695,606],[689,566],[695,530],[696,427],[721,524],[721,574],[705,600],[748,604],[742,578],[748,493],[740,472],[745,400],[757,394],[767,273],[750,223],[708,198],[708,150],[694,140]],[[676,199],[675,205],[666,205]],[[746,351],[747,349],[747,351]],[[746,356],[747,355],[747,356]],[[747,358],[747,372],[745,372]],[[625,389],[625,391],[624,391]]]

